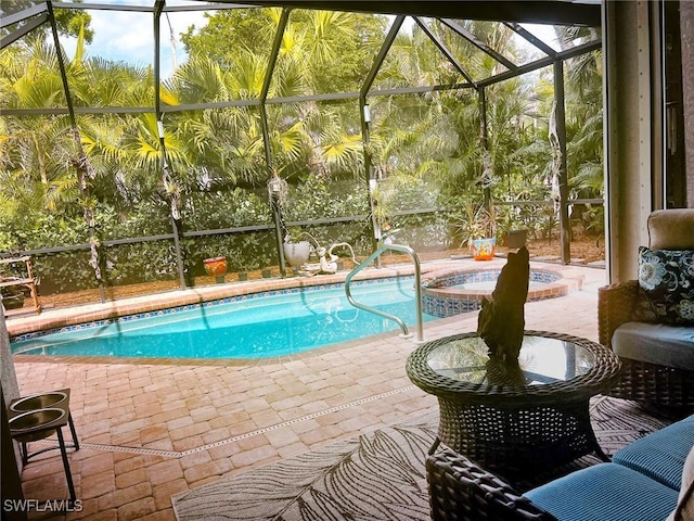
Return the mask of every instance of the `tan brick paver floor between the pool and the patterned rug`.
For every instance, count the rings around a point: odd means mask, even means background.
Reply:
[[[527,303],[526,328],[596,340],[596,290],[605,271],[570,268],[584,275],[583,288]],[[476,313],[428,322],[425,340],[472,331],[476,323]],[[247,365],[17,356],[15,368],[23,395],[72,392],[81,448],[69,461],[82,508],[55,519],[170,521],[172,494],[436,407],[406,374],[414,347],[394,332]],[[57,450],[33,459],[22,481],[27,498],[67,496]]]

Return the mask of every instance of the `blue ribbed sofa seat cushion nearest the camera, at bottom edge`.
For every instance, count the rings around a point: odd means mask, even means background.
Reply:
[[[615,463],[571,472],[524,495],[558,521],[659,521],[678,499],[678,491]]]

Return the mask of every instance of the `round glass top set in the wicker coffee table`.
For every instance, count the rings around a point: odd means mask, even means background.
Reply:
[[[568,381],[588,373],[595,355],[569,341],[526,335],[518,366],[490,359],[479,336],[452,340],[428,353],[426,361],[436,373],[466,383],[542,385]]]

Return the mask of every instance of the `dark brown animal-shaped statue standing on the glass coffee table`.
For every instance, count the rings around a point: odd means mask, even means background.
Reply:
[[[483,297],[477,334],[489,347],[489,356],[506,365],[517,364],[525,330],[524,305],[528,297],[530,254],[523,246],[510,253],[491,298]]]

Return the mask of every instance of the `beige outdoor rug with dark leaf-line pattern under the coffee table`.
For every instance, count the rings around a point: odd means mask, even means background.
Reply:
[[[591,418],[607,454],[670,423],[602,396]],[[174,511],[179,521],[427,521],[424,460],[437,421],[432,412],[178,494]],[[596,462],[586,456],[574,467]]]

